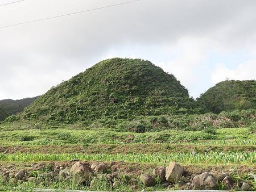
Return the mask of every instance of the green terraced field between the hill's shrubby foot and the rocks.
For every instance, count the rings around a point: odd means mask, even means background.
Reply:
[[[11,164],[11,171],[16,172],[21,165],[33,169],[33,166],[42,162],[47,165],[71,160],[100,161],[106,164],[113,161],[122,162],[124,170],[129,168],[129,172],[135,174],[138,172],[138,166],[140,171],[152,173],[152,167],[166,166],[169,162],[175,161],[184,166],[188,172],[202,173],[205,170],[214,173],[229,172],[235,181],[246,181],[255,187],[256,182],[249,174],[256,174],[256,135],[251,134],[247,128],[220,128],[216,134],[203,131],[170,130],[134,133],[112,129],[65,128],[1,131],[2,171],[6,168],[6,164]],[[27,185],[20,184],[17,187],[33,187]],[[143,189],[143,186],[139,185]],[[60,185],[44,187],[54,188]],[[63,185],[61,189],[68,187],[70,185]],[[177,188],[174,186],[173,189],[176,189],[175,187]],[[224,189],[221,185],[218,187]],[[75,188],[90,189],[81,186]],[[113,190],[111,187],[95,189]],[[151,190],[153,189],[164,188],[159,183],[151,187]]]

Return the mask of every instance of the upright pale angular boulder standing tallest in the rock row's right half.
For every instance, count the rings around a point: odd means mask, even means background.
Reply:
[[[176,183],[180,180],[182,173],[183,168],[176,162],[171,162],[170,165],[166,167],[166,180],[171,183]]]

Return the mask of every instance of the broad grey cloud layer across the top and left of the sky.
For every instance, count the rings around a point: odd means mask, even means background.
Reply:
[[[0,26],[120,2],[125,1],[26,0],[0,7]],[[255,11],[254,0],[141,0],[0,28],[0,99],[42,94],[119,47],[170,46],[186,36],[208,37],[226,48],[254,47]]]

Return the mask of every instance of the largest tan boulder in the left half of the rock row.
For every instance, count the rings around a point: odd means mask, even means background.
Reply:
[[[70,169],[70,173],[73,175],[73,181],[76,183],[84,183],[90,179],[92,169],[85,164],[81,164],[77,161]]]

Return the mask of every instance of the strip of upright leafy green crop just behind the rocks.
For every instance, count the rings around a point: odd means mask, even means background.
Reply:
[[[0,153],[0,161],[9,162],[37,162],[37,161],[69,161],[79,159],[84,161],[123,161],[141,163],[179,162],[183,164],[245,164],[256,163],[256,152],[210,152],[197,153],[171,153],[171,154],[22,154],[9,155]]]

